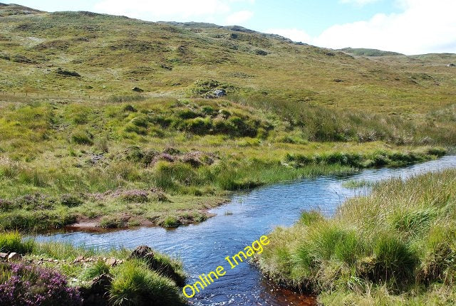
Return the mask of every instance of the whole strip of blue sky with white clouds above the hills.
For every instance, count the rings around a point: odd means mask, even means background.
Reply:
[[[2,1],[2,0],[0,0]],[[456,53],[456,0],[16,0],[43,11],[146,21],[201,21],[276,33],[326,48]]]

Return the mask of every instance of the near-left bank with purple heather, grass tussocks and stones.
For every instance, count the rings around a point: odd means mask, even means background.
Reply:
[[[100,252],[1,232],[0,253],[22,258],[0,259],[0,304],[185,305],[179,289],[185,281],[182,264],[138,250]]]

